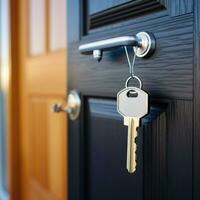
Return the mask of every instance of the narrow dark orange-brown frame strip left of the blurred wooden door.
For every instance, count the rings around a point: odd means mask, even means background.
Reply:
[[[4,0],[6,1],[6,0]],[[9,82],[9,198],[20,198],[20,1],[10,0],[10,82]]]

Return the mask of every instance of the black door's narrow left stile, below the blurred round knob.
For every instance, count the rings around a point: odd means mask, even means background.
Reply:
[[[84,104],[84,100],[81,99]],[[83,108],[80,118],[83,119]],[[85,198],[85,157],[84,157],[84,123],[81,123],[80,118],[73,123],[68,120],[68,199],[83,200]]]

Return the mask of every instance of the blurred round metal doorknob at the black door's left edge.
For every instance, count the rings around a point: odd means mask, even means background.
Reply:
[[[65,99],[59,103],[53,104],[51,107],[52,112],[67,112],[71,120],[76,120],[79,117],[81,108],[81,99],[75,90],[70,91],[67,102]]]

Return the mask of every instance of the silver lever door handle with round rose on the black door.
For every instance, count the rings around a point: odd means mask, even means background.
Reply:
[[[139,32],[136,36],[122,36],[83,44],[79,46],[79,51],[82,54],[93,53],[93,57],[100,61],[103,51],[124,46],[133,46],[136,56],[147,57],[154,52],[156,41],[152,33]]]

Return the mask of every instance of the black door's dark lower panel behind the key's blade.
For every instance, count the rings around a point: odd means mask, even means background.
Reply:
[[[126,166],[127,133],[114,100],[88,100],[85,129],[86,199],[142,199],[142,160],[138,160],[135,178],[124,170]],[[101,127],[101,128],[97,128]],[[141,143],[141,134],[138,138]],[[121,144],[119,146],[119,144]],[[141,143],[142,144],[142,143]],[[142,145],[138,148],[142,158]],[[128,183],[128,185],[127,185]],[[132,193],[132,185],[135,185]]]

